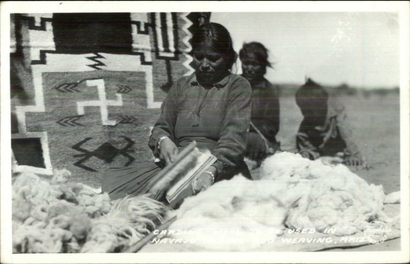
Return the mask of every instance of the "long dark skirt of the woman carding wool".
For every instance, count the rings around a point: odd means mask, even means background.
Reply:
[[[161,162],[142,162],[132,167],[109,168],[101,179],[101,189],[103,192],[108,192],[111,200],[127,195],[145,194],[149,191],[148,183],[163,167]],[[251,179],[248,166],[242,161],[236,167],[225,169],[221,175],[218,175],[217,181],[229,180],[239,173]],[[163,197],[160,201],[163,201]]]

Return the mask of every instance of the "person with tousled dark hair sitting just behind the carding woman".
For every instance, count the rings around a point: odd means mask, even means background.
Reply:
[[[263,76],[267,67],[268,50],[259,42],[244,43],[239,51],[242,77],[252,87],[251,127],[245,157],[260,162],[279,149],[276,134],[279,131],[278,89]]]

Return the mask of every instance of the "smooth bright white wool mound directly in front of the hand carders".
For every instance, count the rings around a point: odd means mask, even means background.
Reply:
[[[173,238],[221,251],[253,249],[275,239],[284,229],[287,209],[274,193],[286,185],[272,182],[236,175],[186,198],[170,226],[182,232]]]

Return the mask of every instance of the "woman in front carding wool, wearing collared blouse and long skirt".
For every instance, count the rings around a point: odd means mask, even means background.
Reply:
[[[195,32],[192,48],[196,71],[173,84],[148,143],[162,163],[109,169],[103,175],[102,189],[112,200],[142,194],[140,183],[160,171],[163,162],[172,163],[178,151],[192,141],[217,158],[193,183],[194,192],[238,173],[251,178],[243,153],[251,120],[252,91],[245,78],[230,73],[237,58],[231,36],[220,24],[205,24]]]

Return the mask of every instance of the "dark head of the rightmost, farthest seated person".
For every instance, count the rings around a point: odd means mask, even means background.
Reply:
[[[301,109],[324,108],[328,98],[326,90],[310,78],[300,86],[295,95],[296,104]]]

